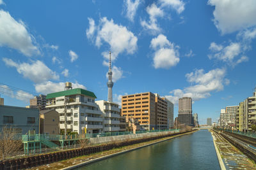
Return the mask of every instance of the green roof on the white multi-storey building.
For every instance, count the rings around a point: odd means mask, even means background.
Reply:
[[[51,99],[51,98],[61,97],[61,96],[70,96],[70,95],[75,95],[75,94],[83,94],[84,96],[90,96],[90,97],[97,98],[93,92],[90,92],[88,90],[71,89],[71,90],[65,90],[65,91],[62,91],[62,92],[47,94],[46,99]]]

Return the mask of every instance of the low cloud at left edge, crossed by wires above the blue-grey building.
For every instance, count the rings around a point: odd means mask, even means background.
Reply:
[[[24,92],[23,90],[13,91],[7,85],[0,85],[0,92],[5,96],[9,96],[9,97],[18,99],[20,101],[24,101],[26,103],[29,102],[29,99],[32,99],[34,97],[32,94],[29,94],[28,92]]]

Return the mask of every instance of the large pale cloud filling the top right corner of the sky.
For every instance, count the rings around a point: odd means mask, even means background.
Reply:
[[[209,0],[208,4],[215,6],[214,24],[221,34],[241,31],[256,25],[255,0]]]

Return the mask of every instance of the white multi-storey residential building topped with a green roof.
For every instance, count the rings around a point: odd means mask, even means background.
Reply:
[[[66,90],[47,94],[48,110],[56,110],[60,114],[61,132],[77,132],[81,134],[99,133],[103,129],[102,111],[95,103],[97,98],[93,92],[84,89],[72,89],[71,83],[66,83]],[[65,112],[66,122],[65,125]]]

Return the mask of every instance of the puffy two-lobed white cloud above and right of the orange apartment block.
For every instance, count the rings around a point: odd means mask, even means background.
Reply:
[[[168,69],[176,66],[179,59],[179,46],[170,43],[166,36],[160,34],[151,40],[150,46],[156,50],[154,53],[154,67]]]

